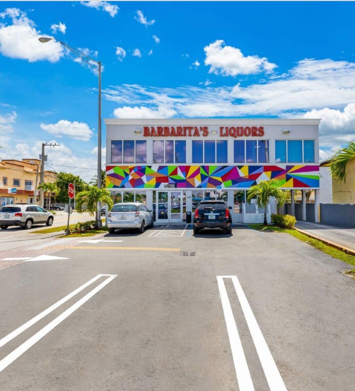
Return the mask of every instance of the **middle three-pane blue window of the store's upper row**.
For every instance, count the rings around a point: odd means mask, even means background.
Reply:
[[[227,163],[227,140],[193,140],[192,163]]]

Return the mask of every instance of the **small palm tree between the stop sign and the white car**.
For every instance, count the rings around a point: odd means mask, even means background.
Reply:
[[[86,211],[94,216],[97,211],[97,204],[103,202],[107,204],[108,208],[111,209],[114,203],[111,198],[111,193],[107,189],[99,189],[96,186],[90,186],[88,190],[80,191],[76,195],[76,210],[82,213],[83,205],[86,206]],[[95,219],[95,228],[98,228],[97,221]]]

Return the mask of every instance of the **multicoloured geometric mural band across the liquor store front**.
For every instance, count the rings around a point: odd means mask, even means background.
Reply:
[[[284,188],[318,188],[318,165],[106,166],[107,188],[249,188],[277,178]],[[166,186],[169,185],[169,186]]]

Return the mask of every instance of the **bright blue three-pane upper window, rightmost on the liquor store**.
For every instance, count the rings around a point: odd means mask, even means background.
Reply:
[[[315,140],[275,140],[276,163],[314,163]]]

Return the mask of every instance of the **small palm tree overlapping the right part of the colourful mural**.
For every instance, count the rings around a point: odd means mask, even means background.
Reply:
[[[285,194],[280,189],[280,181],[271,179],[270,181],[261,181],[257,185],[251,186],[247,192],[247,201],[249,204],[253,198],[256,198],[256,203],[259,208],[264,208],[264,225],[267,222],[267,207],[269,197],[275,197],[280,206],[285,203]]]

